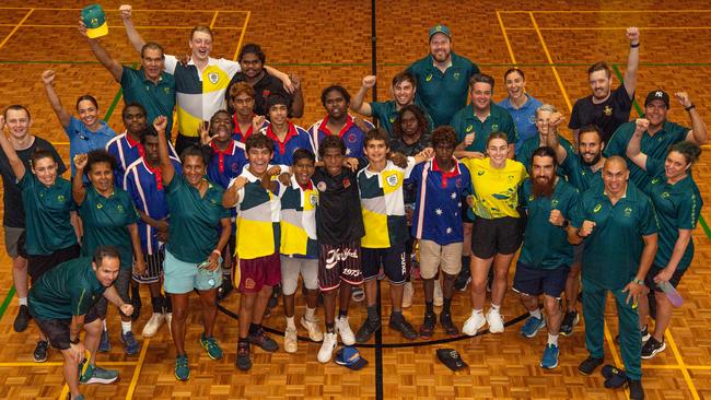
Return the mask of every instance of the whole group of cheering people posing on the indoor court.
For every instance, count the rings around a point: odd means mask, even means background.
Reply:
[[[219,290],[229,291],[232,273],[241,293],[236,366],[248,370],[252,346],[279,349],[261,326],[276,286],[283,294],[282,346],[298,351],[300,277],[306,303],[300,325],[322,342],[322,363],[333,358],[338,338],[364,343],[382,329],[381,275],[389,284],[388,327],[405,339],[432,337],[438,319],[450,336],[476,336],[487,325],[501,333],[518,250],[512,289],[529,313],[521,333],[548,331],[540,366],[557,367],[559,334],[572,334],[580,320],[582,281],[590,356],[579,370],[590,375],[603,363],[605,299],[613,292],[630,397],[643,398],[641,358],[665,349],[672,316],[661,287],[678,285],[693,257],[690,236],[702,201],[691,166],[708,133],[684,92],[674,96],[691,128],[666,119],[672,105],[662,90],[650,92],[644,116],[629,121],[637,28],[626,33],[630,51],[617,89],[606,63],[590,68],[592,93],[572,110],[571,143],[559,131],[562,115],[526,92],[521,69],[505,72],[508,96],[494,104],[494,78],[452,51],[444,25],[429,31],[430,54],[394,77],[392,99],[364,99],[373,75],[353,97],[328,86],[320,96],[325,117],[305,130],[291,121],[306,106],[301,80],[267,67],[258,45],[245,45],[238,61],[215,59],[211,31],[197,26],[189,57],[170,56],[141,38],[130,5],[120,12],[141,56],[138,70],[114,59],[83,23],[79,31],[123,89],[124,132],[101,120],[91,95],[77,101],[72,116],[54,89],[57,74],[42,75],[70,140],[71,180],[61,177],[66,166],[53,145],[30,132],[25,106],[7,107],[0,119],[9,133],[0,134],[0,172],[20,302],[14,329],[35,320],[37,362],[47,360],[49,345],[61,351],[71,398],[82,398],[80,383],[118,377],[95,363],[97,352],[110,349],[107,302],[118,308],[125,352],[140,351],[131,318],[139,284],[149,286],[153,310],[142,337],[165,321],[175,377],[188,380],[189,294],[199,294],[200,345],[222,358],[213,329]],[[426,306],[417,328],[403,315],[411,304],[413,258]],[[452,298],[469,284],[471,313],[459,328]],[[359,286],[368,317],[353,332],[348,313]],[[315,316],[319,296],[324,327]]]

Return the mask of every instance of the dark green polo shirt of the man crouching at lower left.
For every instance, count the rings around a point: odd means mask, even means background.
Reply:
[[[38,319],[71,319],[86,315],[105,290],[92,269],[91,257],[65,261],[32,284],[30,314]]]

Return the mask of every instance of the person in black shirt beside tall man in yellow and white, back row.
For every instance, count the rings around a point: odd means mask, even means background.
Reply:
[[[254,89],[255,103],[254,111],[257,115],[267,115],[269,107],[267,106],[267,98],[269,96],[279,94],[288,99],[287,108],[289,116],[293,118],[301,118],[304,115],[304,95],[301,91],[301,79],[296,75],[290,75],[291,83],[294,86],[293,93],[284,90],[283,83],[275,75],[269,73],[265,68],[267,58],[261,51],[261,47],[256,44],[246,44],[242,46],[237,61],[242,68],[242,72],[237,72],[228,84],[228,92],[225,93],[225,101],[228,102],[228,110],[234,114],[234,108],[230,104],[230,90],[237,82],[246,82]],[[289,164],[291,165],[291,164]]]

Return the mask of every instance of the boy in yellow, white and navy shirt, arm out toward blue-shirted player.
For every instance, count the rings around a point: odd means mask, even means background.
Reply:
[[[365,134],[365,156],[368,166],[358,173],[361,209],[365,236],[361,240],[362,271],[368,299],[368,318],[356,333],[356,341],[364,343],[381,329],[377,314],[376,278],[381,266],[389,279],[392,314],[389,327],[412,340],[417,331],[403,316],[403,285],[407,282],[407,255],[405,243],[408,239],[407,217],[405,216],[405,195],[403,184],[409,178],[412,168],[432,156],[428,148],[415,157],[407,157],[401,168],[388,160],[389,138],[384,129],[376,128]],[[399,154],[401,157],[401,154]]]

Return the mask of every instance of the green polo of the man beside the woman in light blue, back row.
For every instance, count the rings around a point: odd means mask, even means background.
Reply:
[[[494,131],[505,132],[509,144],[515,144],[518,140],[516,125],[513,122],[511,114],[505,108],[493,103],[491,103],[491,110],[483,122],[474,114],[474,105],[469,104],[452,117],[450,125],[457,132],[459,143],[464,141],[464,137],[467,134],[476,133],[474,142],[465,149],[469,152],[483,153],[487,150],[487,139]]]

